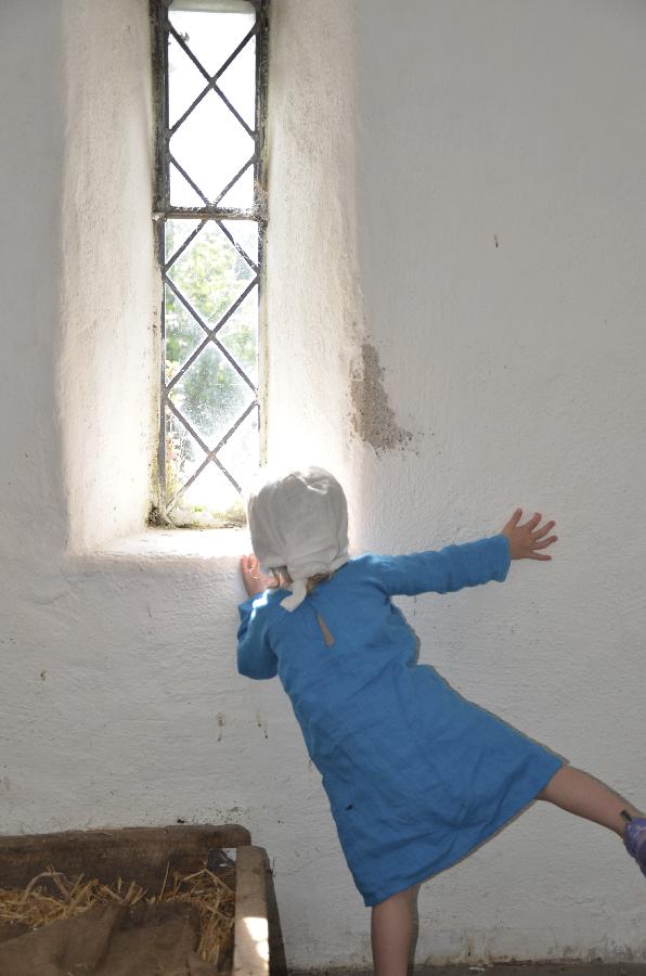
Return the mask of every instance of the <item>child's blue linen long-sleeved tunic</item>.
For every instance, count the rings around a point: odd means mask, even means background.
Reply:
[[[465,857],[564,762],[416,664],[414,633],[390,601],[502,582],[508,567],[508,542],[493,536],[352,558],[294,613],[280,605],[284,589],[240,606],[238,670],[279,675],[366,906]]]

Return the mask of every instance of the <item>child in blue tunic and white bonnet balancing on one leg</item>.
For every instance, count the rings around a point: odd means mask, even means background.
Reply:
[[[328,472],[292,472],[248,502],[255,555],[241,561],[249,600],[238,670],[277,673],[292,699],[372,907],[377,976],[406,972],[415,886],[535,798],[615,831],[646,874],[643,814],[416,664],[414,634],[390,602],[502,582],[511,560],[550,560],[555,523],[535,514],[521,525],[521,515],[477,542],[350,560],[346,499]]]

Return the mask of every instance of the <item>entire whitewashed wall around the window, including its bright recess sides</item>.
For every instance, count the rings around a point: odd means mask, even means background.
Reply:
[[[146,7],[0,14],[0,830],[244,823],[289,961],[365,964],[288,702],[235,672],[244,539],[114,541],[154,395]],[[339,472],[358,550],[558,518],[552,565],[406,606],[461,691],[646,804],[645,39],[629,0],[274,0],[268,304],[270,453]],[[646,961],[645,908],[537,806],[423,889],[417,959]]]

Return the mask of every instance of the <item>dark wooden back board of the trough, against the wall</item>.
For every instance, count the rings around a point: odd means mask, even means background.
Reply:
[[[85,874],[104,884],[121,877],[156,888],[167,870],[169,876],[173,871],[199,871],[209,849],[241,847],[249,842],[249,832],[238,824],[0,835],[0,887],[22,888],[53,864],[65,874]]]

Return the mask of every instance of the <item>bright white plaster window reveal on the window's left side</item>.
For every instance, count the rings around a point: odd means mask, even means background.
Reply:
[[[147,516],[159,376],[147,4],[66,0],[60,409],[70,544]]]

